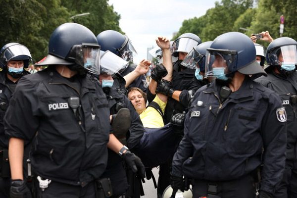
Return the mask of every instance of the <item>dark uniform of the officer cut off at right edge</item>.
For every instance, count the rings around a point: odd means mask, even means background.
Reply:
[[[267,77],[260,77],[256,79],[265,87],[275,91],[282,100],[282,104],[286,109],[287,120],[287,156],[286,156],[286,169],[283,178],[283,183],[279,186],[279,190],[275,194],[276,197],[287,197],[287,187],[293,191],[297,187],[297,181],[291,180],[295,177],[297,169],[294,170],[294,162],[297,160],[297,73],[292,73],[291,76],[285,77],[281,74],[276,74],[274,71],[268,73]],[[290,184],[292,187],[290,187]],[[291,191],[291,190],[290,190]],[[297,194],[291,195],[296,197]]]

